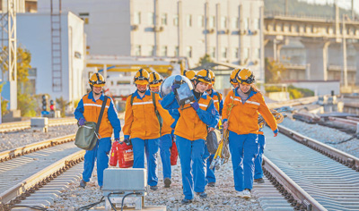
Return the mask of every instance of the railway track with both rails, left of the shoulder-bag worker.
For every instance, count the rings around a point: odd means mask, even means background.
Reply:
[[[74,135],[48,139],[0,154],[0,210],[10,210],[23,198],[83,160]]]

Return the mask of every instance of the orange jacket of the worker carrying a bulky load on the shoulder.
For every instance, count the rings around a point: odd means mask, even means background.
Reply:
[[[198,100],[197,111],[191,105],[185,105],[183,110],[179,108],[180,119],[176,124],[174,134],[189,140],[206,140],[207,125],[216,125],[219,119],[215,105],[209,105],[210,102],[211,97],[205,92]]]

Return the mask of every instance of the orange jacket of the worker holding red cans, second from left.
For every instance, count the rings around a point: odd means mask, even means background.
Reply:
[[[133,105],[131,105],[131,96],[127,97],[126,112],[125,112],[125,125],[124,135],[129,135],[131,139],[158,139],[160,138],[160,122],[154,113],[153,97],[150,90],[146,90],[144,97],[139,97],[137,91],[132,95],[135,95]],[[156,108],[159,111],[163,119],[163,125],[171,125],[174,121],[167,110],[162,108],[162,105],[158,102],[160,96],[156,93],[155,103]],[[171,131],[170,131],[171,132]]]

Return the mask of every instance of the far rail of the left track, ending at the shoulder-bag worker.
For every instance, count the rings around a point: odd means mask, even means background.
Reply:
[[[23,156],[25,154],[37,151],[42,148],[49,148],[56,146],[58,144],[74,141],[74,138],[75,138],[75,134],[72,134],[55,139],[47,139],[29,145],[25,145],[19,148],[13,148],[4,152],[0,152],[0,163],[12,159],[16,156]]]

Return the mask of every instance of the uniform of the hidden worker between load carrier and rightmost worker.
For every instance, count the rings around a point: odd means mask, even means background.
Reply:
[[[214,100],[215,109],[217,109],[219,115],[222,115],[222,109],[223,109],[223,97],[222,97],[222,94],[217,92],[215,89],[212,89],[212,93],[209,96],[212,97],[212,99]],[[213,125],[209,126],[209,127],[215,128]],[[211,155],[208,152],[208,148],[207,148],[207,145],[206,145],[206,147],[205,147],[205,155],[204,155],[205,162],[206,162],[206,184],[209,183],[209,182],[215,182],[215,168],[214,169],[209,168],[209,166],[211,165],[211,162],[213,161],[214,157],[215,157],[215,155]]]

